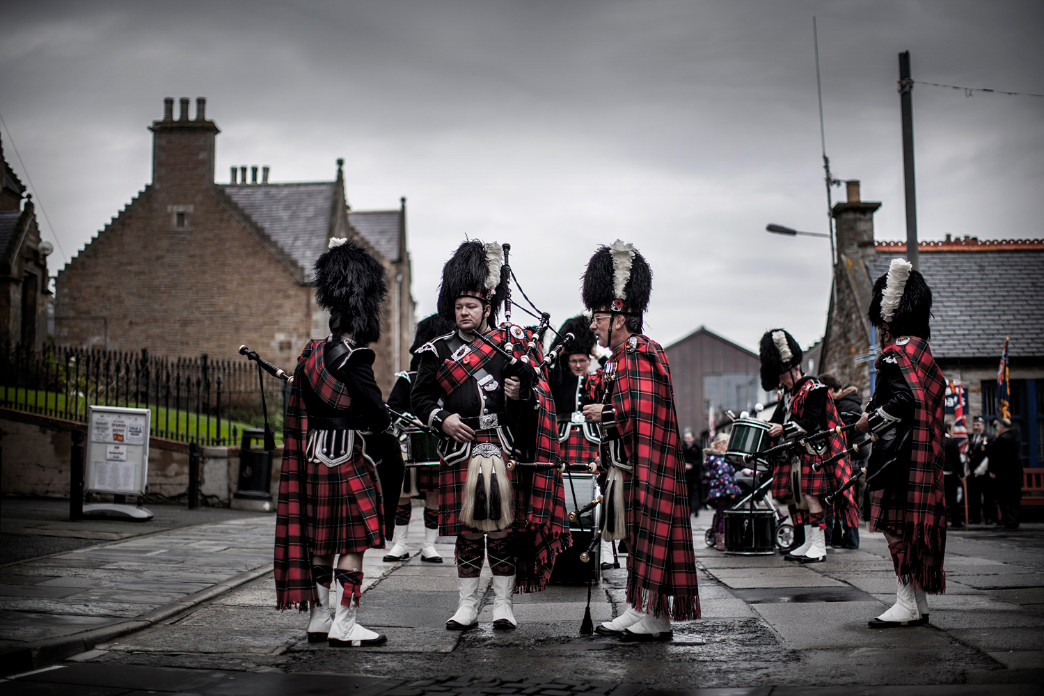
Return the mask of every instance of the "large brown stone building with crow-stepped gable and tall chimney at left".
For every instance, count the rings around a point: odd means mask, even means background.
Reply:
[[[264,167],[214,181],[214,121],[206,100],[166,99],[152,131],[152,182],[63,269],[55,333],[62,344],[171,357],[237,356],[245,343],[292,367],[310,338],[329,333],[311,267],[331,237],[366,245],[388,270],[378,383],[408,364],[413,299],[405,199],[399,210],[353,212],[342,160],[333,181],[274,184]],[[237,169],[239,170],[237,172]],[[237,176],[241,173],[241,176]]]

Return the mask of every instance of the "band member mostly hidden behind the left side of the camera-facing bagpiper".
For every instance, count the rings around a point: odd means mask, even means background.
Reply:
[[[413,332],[413,344],[409,347],[409,354],[413,356],[409,361],[409,369],[396,374],[396,382],[388,394],[388,406],[407,416],[404,419],[397,419],[396,429],[400,431],[400,438],[408,437],[403,431],[408,427],[408,422],[413,417],[410,411],[409,392],[413,386],[413,378],[417,376],[417,367],[421,363],[417,351],[438,336],[445,336],[454,331],[452,321],[447,321],[437,314],[426,316],[417,322],[417,330]],[[392,548],[384,554],[384,560],[407,560],[409,559],[409,547],[406,545],[406,530],[409,527],[409,520],[412,518],[413,507],[410,498],[422,498],[424,500],[424,544],[421,546],[421,560],[428,563],[441,563],[443,557],[435,551],[435,541],[438,538],[438,467],[437,466],[409,466],[402,480],[402,495],[399,498],[399,506],[395,511],[395,535],[392,536]]]

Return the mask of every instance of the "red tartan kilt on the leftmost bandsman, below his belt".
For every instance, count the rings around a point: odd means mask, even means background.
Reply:
[[[362,553],[383,549],[384,541],[370,538],[353,488],[361,489],[371,506],[381,509],[377,474],[356,447],[355,456],[337,466],[305,461],[305,535],[308,552],[315,556],[331,553]],[[361,486],[359,485],[361,483]]]

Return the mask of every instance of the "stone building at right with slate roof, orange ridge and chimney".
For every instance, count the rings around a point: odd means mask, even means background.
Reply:
[[[879,202],[834,206],[838,261],[817,374],[832,373],[870,398],[876,336],[867,320],[874,281],[887,272],[905,242],[875,242]],[[993,416],[997,365],[1009,345],[1013,419],[1022,431],[1023,464],[1044,464],[1044,240],[975,237],[920,242],[920,271],[932,290],[931,350],[948,380],[968,390],[968,417]],[[861,358],[861,359],[860,359]]]

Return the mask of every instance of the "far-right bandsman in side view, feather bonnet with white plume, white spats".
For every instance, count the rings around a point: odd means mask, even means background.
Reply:
[[[883,350],[874,398],[856,425],[878,437],[867,467],[875,490],[871,530],[884,532],[897,575],[896,603],[870,620],[873,628],[927,623],[925,594],[946,592],[946,380],[928,345],[930,316],[924,277],[893,259],[874,283],[868,318]]]

